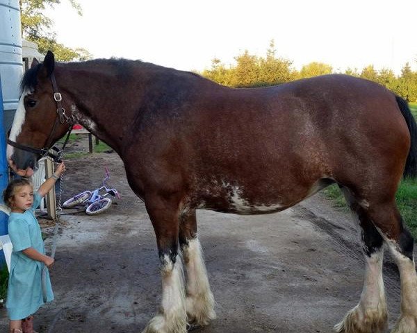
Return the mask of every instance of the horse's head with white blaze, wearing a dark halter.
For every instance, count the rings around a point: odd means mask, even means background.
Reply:
[[[54,78],[54,53],[44,62],[33,60],[22,79],[22,95],[10,130],[7,157],[19,175],[33,175],[42,151],[48,150],[68,130],[68,117]]]

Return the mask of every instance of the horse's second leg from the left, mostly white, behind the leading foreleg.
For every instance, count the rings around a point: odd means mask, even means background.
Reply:
[[[202,248],[197,237],[195,210],[184,213],[179,221],[179,243],[186,264],[186,310],[188,322],[207,325],[215,319],[214,298],[208,283]]]

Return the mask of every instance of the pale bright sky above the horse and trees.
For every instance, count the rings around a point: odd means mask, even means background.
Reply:
[[[49,10],[58,42],[94,58],[128,58],[202,71],[218,58],[235,65],[245,50],[300,70],[325,62],[334,71],[367,65],[396,74],[417,70],[416,0],[67,0]]]

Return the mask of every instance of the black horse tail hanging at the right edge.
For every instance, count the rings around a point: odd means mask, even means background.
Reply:
[[[416,178],[417,177],[417,124],[413,114],[411,114],[407,101],[402,99],[400,96],[395,95],[398,107],[401,110],[402,116],[407,122],[409,128],[411,145],[409,155],[407,156],[407,162],[405,163],[404,178]]]

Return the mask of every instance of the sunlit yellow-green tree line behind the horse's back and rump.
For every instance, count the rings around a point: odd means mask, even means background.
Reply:
[[[300,71],[293,69],[291,60],[276,56],[273,40],[265,57],[254,56],[244,51],[235,60],[236,65],[227,67],[221,60],[213,59],[211,68],[205,69],[200,74],[229,87],[262,87],[335,72],[331,65],[322,62],[311,62],[304,65]],[[408,62],[402,67],[399,76],[396,76],[391,69],[377,70],[373,65],[368,65],[361,71],[347,68],[341,74],[373,80],[407,101],[417,101],[417,72],[411,70]]]

